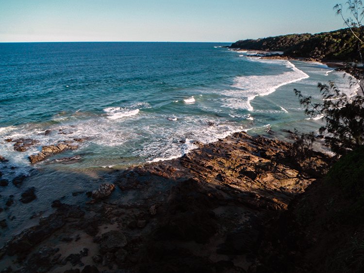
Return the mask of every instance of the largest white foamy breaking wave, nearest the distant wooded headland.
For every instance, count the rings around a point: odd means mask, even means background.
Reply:
[[[289,61],[274,61],[275,62],[273,63],[285,65],[290,69],[290,71],[283,72],[280,75],[236,77],[234,79],[234,84],[232,85],[232,87],[236,89],[225,90],[223,92],[223,95],[230,97],[224,99],[225,103],[223,104],[223,107],[235,109],[242,108],[248,111],[253,111],[250,101],[256,96],[269,95],[283,85],[309,78],[306,73],[299,70]],[[263,60],[262,62],[272,63],[271,60]]]

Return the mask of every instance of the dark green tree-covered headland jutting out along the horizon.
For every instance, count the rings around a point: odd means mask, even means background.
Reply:
[[[358,61],[364,46],[349,28],[318,34],[289,34],[257,40],[240,40],[231,48],[283,51],[290,57],[317,60]]]

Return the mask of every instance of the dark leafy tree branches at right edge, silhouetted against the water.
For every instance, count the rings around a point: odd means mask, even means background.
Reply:
[[[333,82],[318,83],[322,101],[315,103],[312,96],[304,97],[295,89],[299,103],[310,117],[322,116],[326,121],[320,133],[328,133],[325,142],[339,155],[364,145],[364,97],[348,97]]]

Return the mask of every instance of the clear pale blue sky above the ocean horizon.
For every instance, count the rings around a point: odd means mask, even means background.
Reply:
[[[343,28],[346,0],[0,0],[0,42],[234,42]]]

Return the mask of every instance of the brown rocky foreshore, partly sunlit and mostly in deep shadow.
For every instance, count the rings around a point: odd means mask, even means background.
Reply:
[[[121,189],[120,199],[79,207],[55,200],[54,213],[2,247],[1,269],[252,272],[265,225],[330,161],[293,154],[288,143],[240,132],[179,159],[116,172],[105,182]]]

